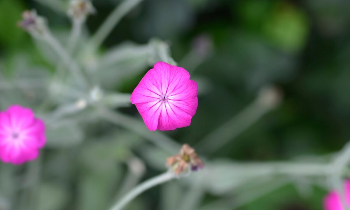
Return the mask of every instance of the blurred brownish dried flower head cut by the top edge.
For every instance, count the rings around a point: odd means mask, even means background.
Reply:
[[[68,16],[77,21],[85,21],[86,17],[95,13],[95,8],[90,1],[72,0],[68,10]]]

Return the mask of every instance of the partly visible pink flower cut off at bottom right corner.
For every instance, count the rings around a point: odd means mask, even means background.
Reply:
[[[350,180],[344,183],[346,204],[350,207]],[[339,193],[331,191],[323,199],[324,210],[343,210]]]

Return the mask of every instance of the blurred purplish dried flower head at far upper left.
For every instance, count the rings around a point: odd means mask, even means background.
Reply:
[[[38,16],[35,10],[24,11],[22,17],[23,20],[18,22],[18,26],[28,31],[31,35],[38,38],[47,33],[48,29],[45,19]]]

